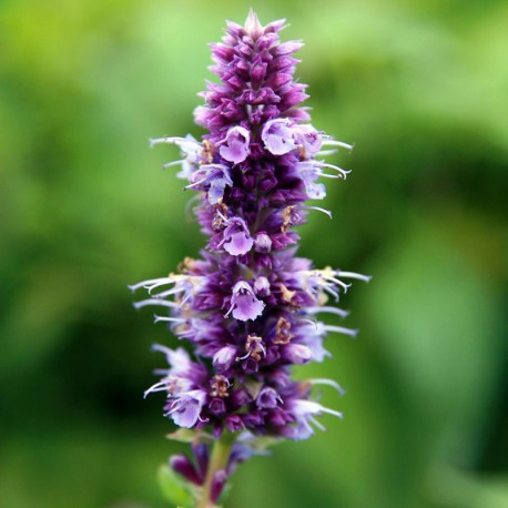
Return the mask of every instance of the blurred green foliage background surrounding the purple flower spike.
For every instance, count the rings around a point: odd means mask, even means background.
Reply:
[[[328,431],[256,457],[233,508],[508,507],[508,4],[420,0],[0,3],[0,506],[165,505],[180,446],[143,400],[175,345],[126,284],[204,244],[150,136],[200,135],[207,42],[225,19],[286,18],[313,123],[354,142],[301,228],[357,341],[299,376],[346,389]]]

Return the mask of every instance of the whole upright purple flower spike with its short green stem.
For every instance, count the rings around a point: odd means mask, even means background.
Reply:
[[[165,167],[181,166],[185,189],[199,193],[195,215],[207,236],[200,258],[185,258],[179,273],[132,286],[149,293],[136,307],[160,307],[155,322],[182,339],[177,349],[154,346],[167,367],[146,394],[163,392],[164,415],[194,433],[194,457],[174,456],[171,466],[194,485],[202,508],[263,440],[306,439],[323,429],[321,415],[342,417],[313,390],[342,388],[293,380],[292,367],[331,356],[329,333],[356,335],[318,316],[345,317],[331,305],[349,287],[344,281],[369,280],[296,256],[295,227],[312,211],[331,215],[307,200],[326,196],[322,179],[348,173],[323,158],[352,146],[308,123],[299,106],[306,85],[294,79],[302,43],[281,43],[283,26],[262,27],[252,11],[244,27],[228,22],[223,42],[211,45],[220,83],[207,83],[195,111],[206,134],[152,140],[180,148],[181,159]]]

